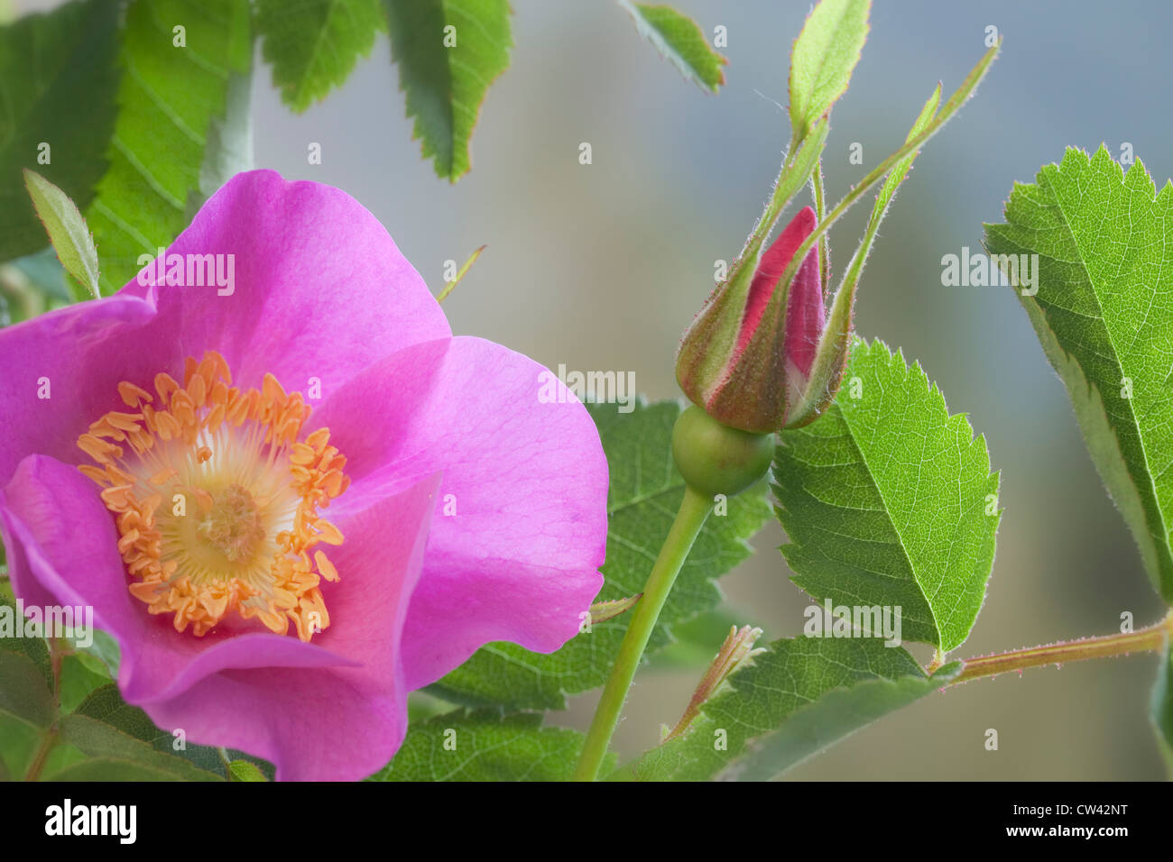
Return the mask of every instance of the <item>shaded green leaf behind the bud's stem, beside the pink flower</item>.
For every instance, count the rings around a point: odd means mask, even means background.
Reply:
[[[671,435],[680,405],[662,401],[618,413],[616,405],[588,405],[611,471],[608,496],[606,578],[596,602],[621,599],[643,590],[647,572],[667,536],[684,496],[684,480],[672,466]],[[678,623],[714,608],[720,592],[712,583],[745,559],[747,539],[769,516],[765,487],[728,501],[728,514],[713,515],[697,537],[647,646],[650,654],[671,642]],[[606,680],[626,631],[630,613],[591,626],[550,654],[515,644],[482,647],[430,691],[455,703],[513,708],[561,710],[565,694],[596,688]],[[712,644],[716,652],[720,642]]]

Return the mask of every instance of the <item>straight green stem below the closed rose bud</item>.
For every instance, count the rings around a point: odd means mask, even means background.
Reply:
[[[586,741],[583,744],[582,756],[578,759],[578,767],[575,769],[576,781],[594,781],[598,778],[599,767],[606,751],[611,745],[611,735],[619,722],[619,713],[623,711],[623,703],[628,698],[628,690],[631,680],[636,677],[639,667],[639,659],[643,658],[647,640],[651,638],[652,629],[659,618],[664,600],[672,591],[676,576],[684,565],[685,557],[692,550],[692,543],[697,539],[700,528],[708,517],[713,501],[694,490],[691,486],[684,489],[684,500],[680,501],[680,509],[672,522],[664,547],[660,548],[656,564],[644,586],[644,597],[639,599],[631,615],[631,623],[623,643],[619,645],[619,654],[616,658],[615,667],[603,688],[598,707],[595,710],[595,719],[586,732]]]

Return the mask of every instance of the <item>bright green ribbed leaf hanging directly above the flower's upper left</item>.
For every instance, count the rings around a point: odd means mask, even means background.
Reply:
[[[185,28],[187,47],[174,45]],[[113,293],[188,225],[233,76],[251,62],[246,0],[136,0],[127,11],[110,169],[86,210]]]

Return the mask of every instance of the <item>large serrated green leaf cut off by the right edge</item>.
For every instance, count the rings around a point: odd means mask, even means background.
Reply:
[[[1125,174],[1104,147],[1069,149],[1035,184],[1015,184],[1005,216],[985,225],[986,247],[1038,254],[1038,293],[1015,291],[1148,577],[1173,602],[1173,185],[1158,195],[1139,159]]]

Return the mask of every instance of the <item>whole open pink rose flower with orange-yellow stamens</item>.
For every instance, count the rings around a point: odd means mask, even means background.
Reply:
[[[369,212],[240,174],[163,263],[0,330],[13,588],[91,606],[128,703],[279,779],[361,779],[408,692],[578,631],[606,537],[595,426],[538,398],[533,360],[454,338]],[[201,278],[216,264],[230,285]]]

